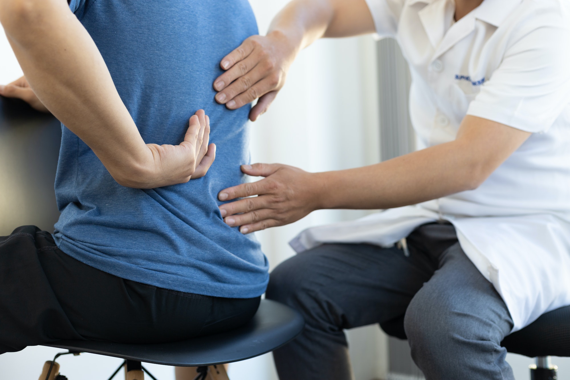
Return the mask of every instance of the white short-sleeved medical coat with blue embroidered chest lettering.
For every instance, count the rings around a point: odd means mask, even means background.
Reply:
[[[458,22],[453,0],[367,3],[378,35],[408,60],[418,148],[454,140],[466,115],[532,135],[475,190],[310,228],[291,246],[391,246],[448,220],[513,331],[570,305],[570,1],[484,0]]]

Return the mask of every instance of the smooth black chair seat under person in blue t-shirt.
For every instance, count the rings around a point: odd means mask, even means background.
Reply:
[[[295,310],[275,301],[262,300],[253,320],[222,334],[148,345],[62,340],[44,346],[169,366],[210,366],[275,350],[299,335],[304,324],[303,317]]]

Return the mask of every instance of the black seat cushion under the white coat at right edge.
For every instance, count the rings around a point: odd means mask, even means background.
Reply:
[[[531,358],[570,357],[570,306],[542,314],[526,328],[504,338],[502,346]]]

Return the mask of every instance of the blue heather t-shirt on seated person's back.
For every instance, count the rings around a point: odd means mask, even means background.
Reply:
[[[55,182],[63,252],[104,272],[207,296],[257,297],[267,259],[251,235],[223,223],[217,194],[243,183],[249,107],[214,101],[219,62],[257,24],[247,0],[72,0],[146,143],[180,144],[203,108],[217,157],[206,176],[156,189],[116,183],[66,127]]]

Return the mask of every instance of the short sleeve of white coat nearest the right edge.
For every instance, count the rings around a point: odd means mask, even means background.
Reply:
[[[471,102],[468,115],[545,132],[570,103],[570,26],[552,15],[541,22],[542,16],[505,35],[502,62]],[[560,22],[552,22],[556,19]]]

